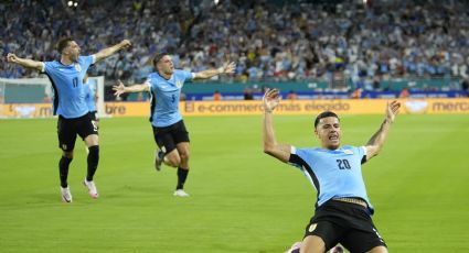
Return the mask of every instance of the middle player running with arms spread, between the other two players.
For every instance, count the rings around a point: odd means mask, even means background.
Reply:
[[[157,170],[164,163],[178,168],[178,184],[174,196],[189,197],[184,191],[184,184],[189,174],[189,133],[184,121],[179,112],[179,99],[185,81],[207,79],[221,74],[232,74],[235,64],[230,63],[217,69],[207,69],[199,73],[190,73],[174,69],[171,56],[167,53],[158,54],[153,58],[156,73],[151,73],[141,85],[125,86],[119,81],[114,86],[115,96],[126,92],[151,94],[150,122],[153,136],[159,151],[154,158]]]

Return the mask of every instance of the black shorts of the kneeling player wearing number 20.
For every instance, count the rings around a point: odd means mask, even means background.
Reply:
[[[338,200],[329,200],[316,209],[305,230],[305,238],[308,235],[320,237],[326,251],[338,243],[351,253],[386,246],[364,207]]]

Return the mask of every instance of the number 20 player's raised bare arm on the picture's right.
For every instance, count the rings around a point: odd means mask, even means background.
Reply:
[[[366,161],[371,160],[372,157],[377,155],[377,153],[380,153],[381,148],[383,147],[384,141],[387,138],[391,124],[394,122],[398,113],[399,107],[401,103],[397,101],[392,101],[391,103],[387,103],[386,118],[384,119],[377,132],[373,134],[373,136],[365,145]]]

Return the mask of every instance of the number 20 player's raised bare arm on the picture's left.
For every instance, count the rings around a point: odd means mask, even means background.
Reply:
[[[277,160],[287,163],[290,160],[290,145],[278,144],[275,138],[273,124],[273,111],[280,102],[280,96],[277,89],[268,89],[264,94],[264,124],[263,140],[264,153],[276,157]]]

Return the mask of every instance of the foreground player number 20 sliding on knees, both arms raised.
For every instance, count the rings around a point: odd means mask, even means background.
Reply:
[[[267,90],[263,100],[264,152],[297,166],[318,191],[315,216],[306,228],[300,252],[326,252],[338,243],[351,252],[387,252],[371,219],[374,209],[361,165],[381,151],[401,103],[387,105],[383,123],[364,146],[340,146],[339,117],[324,111],[315,120],[315,134],[321,147],[297,148],[278,144],[275,138],[273,112],[279,105],[278,90]]]

